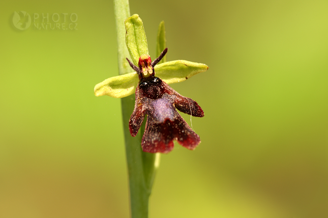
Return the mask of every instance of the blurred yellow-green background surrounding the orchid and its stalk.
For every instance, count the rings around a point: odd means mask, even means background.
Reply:
[[[168,60],[210,66],[172,85],[203,108],[192,118],[202,143],[161,156],[150,217],[328,217],[328,2],[130,10],[152,57],[164,20]],[[42,13],[48,29],[34,27]],[[54,13],[77,29],[50,29]],[[2,1],[0,22],[0,217],[128,217],[128,124],[120,99],[93,93],[118,74],[112,1]]]

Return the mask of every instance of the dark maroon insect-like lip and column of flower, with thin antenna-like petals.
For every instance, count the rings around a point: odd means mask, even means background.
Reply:
[[[194,150],[200,143],[199,136],[189,127],[176,109],[203,117],[204,113],[196,101],[173,90],[160,78],[155,77],[154,66],[164,57],[167,48],[151,62],[148,55],[140,56],[139,67],[129,61],[139,75],[134,111],[129,121],[132,136],[138,133],[144,116],[147,115],[141,147],[144,152],[168,153],[173,149],[173,139],[183,147]]]

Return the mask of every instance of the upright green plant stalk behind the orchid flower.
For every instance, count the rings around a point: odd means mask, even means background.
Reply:
[[[126,29],[124,25],[124,20],[130,17],[129,1],[114,0],[114,13],[117,32],[118,69],[119,74],[123,75],[131,72],[131,67],[126,60],[130,55],[126,46]],[[141,150],[144,124],[135,137],[130,135],[128,124],[134,108],[134,98],[133,95],[121,99],[130,188],[130,215],[132,218],[147,218],[148,200],[155,177],[155,163],[158,165],[156,157],[159,156]]]

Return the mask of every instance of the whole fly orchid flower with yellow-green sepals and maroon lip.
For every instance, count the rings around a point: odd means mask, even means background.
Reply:
[[[129,130],[132,136],[136,136],[147,115],[141,140],[144,152],[168,153],[173,149],[173,140],[194,150],[200,138],[176,109],[194,117],[203,117],[204,113],[196,101],[180,95],[167,84],[185,81],[206,71],[208,66],[185,60],[158,64],[167,53],[167,48],[152,62],[141,19],[133,15],[125,21],[125,25],[126,43],[133,62],[127,60],[135,72],[97,84],[95,95],[120,98],[135,92],[135,107],[129,121]],[[158,77],[155,77],[155,72]]]

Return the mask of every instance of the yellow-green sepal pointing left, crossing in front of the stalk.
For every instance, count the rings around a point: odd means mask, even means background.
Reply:
[[[95,86],[95,95],[108,95],[114,98],[123,98],[135,93],[138,83],[139,78],[136,72],[111,77]]]

